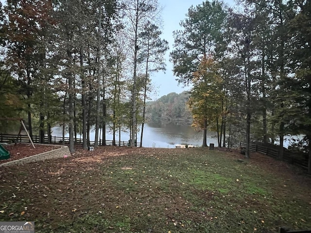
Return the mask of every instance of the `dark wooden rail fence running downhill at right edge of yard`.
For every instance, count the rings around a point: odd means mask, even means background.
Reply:
[[[246,148],[246,143],[240,142],[239,144],[236,144],[231,148],[242,150]],[[280,148],[279,146],[270,143],[256,142],[250,143],[249,150],[251,152],[256,151],[277,159],[279,157]],[[301,166],[303,168],[308,168],[308,154],[300,151],[292,151],[283,148],[283,160],[291,164]]]

